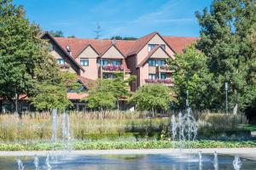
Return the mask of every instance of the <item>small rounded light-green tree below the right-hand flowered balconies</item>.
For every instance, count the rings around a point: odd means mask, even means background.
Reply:
[[[166,111],[170,101],[175,100],[171,88],[163,84],[148,84],[138,88],[132,94],[130,101],[136,105],[139,111]]]

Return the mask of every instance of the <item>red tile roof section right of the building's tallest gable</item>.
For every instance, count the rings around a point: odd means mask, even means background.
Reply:
[[[166,42],[172,47],[172,49],[177,54],[182,54],[183,49],[186,48],[193,42],[199,40],[199,37],[171,37],[171,36],[164,36],[163,37]]]

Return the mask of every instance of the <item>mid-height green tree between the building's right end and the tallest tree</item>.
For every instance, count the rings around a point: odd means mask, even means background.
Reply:
[[[196,110],[207,109],[211,105],[208,99],[208,84],[212,75],[207,69],[207,57],[191,45],[183,54],[176,54],[174,60],[168,61],[173,72],[174,91],[177,94],[177,106],[185,107],[186,91],[189,91],[189,106]]]

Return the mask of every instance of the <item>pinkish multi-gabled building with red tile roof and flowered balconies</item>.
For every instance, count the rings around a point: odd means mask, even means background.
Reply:
[[[183,48],[198,40],[197,37],[161,36],[159,32],[132,41],[52,37],[47,31],[41,37],[49,41],[50,54],[61,71],[77,74],[85,89],[88,90],[90,82],[98,78],[113,78],[114,73],[123,72],[125,78],[137,77],[131,83],[131,91],[156,82],[171,87],[172,71],[168,69],[166,59],[175,59],[175,54],[183,53]],[[79,111],[84,110],[80,99],[86,96],[86,93],[67,94]],[[4,101],[1,103],[3,105]],[[20,110],[29,110],[29,106],[20,105]]]

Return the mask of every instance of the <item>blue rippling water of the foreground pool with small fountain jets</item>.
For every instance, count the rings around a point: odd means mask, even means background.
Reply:
[[[17,157],[6,156],[0,157],[1,170],[16,170]],[[25,170],[34,170],[33,156],[20,156],[23,161]],[[39,169],[47,169],[43,160],[46,156],[38,156]],[[42,160],[42,161],[41,161]],[[175,156],[175,155],[104,155],[104,156],[58,156],[58,161],[51,161],[51,169],[108,169],[108,170],[212,170],[214,156],[202,155],[201,163],[199,163],[198,155]],[[234,169],[232,161],[234,156],[218,156],[218,169]],[[243,170],[253,170],[256,167],[256,161],[241,159]]]

